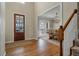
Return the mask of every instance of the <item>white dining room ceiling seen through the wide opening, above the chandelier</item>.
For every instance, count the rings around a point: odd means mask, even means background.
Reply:
[[[57,6],[44,14],[39,16],[40,18],[49,18],[49,19],[60,19],[60,6]]]

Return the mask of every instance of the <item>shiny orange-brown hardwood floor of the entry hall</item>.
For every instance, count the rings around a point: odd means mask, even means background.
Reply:
[[[24,40],[6,44],[6,56],[58,56],[59,47],[45,40]]]

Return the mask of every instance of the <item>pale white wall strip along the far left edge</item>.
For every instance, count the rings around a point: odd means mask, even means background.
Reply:
[[[0,2],[0,56],[5,55],[5,3]]]

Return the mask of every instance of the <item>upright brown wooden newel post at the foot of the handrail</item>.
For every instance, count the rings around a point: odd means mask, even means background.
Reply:
[[[63,56],[63,40],[64,40],[63,26],[60,26],[58,30],[58,40],[60,41],[60,56]]]

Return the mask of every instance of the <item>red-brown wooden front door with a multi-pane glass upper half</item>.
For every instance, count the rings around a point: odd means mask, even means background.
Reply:
[[[25,16],[14,14],[14,41],[25,39]]]

